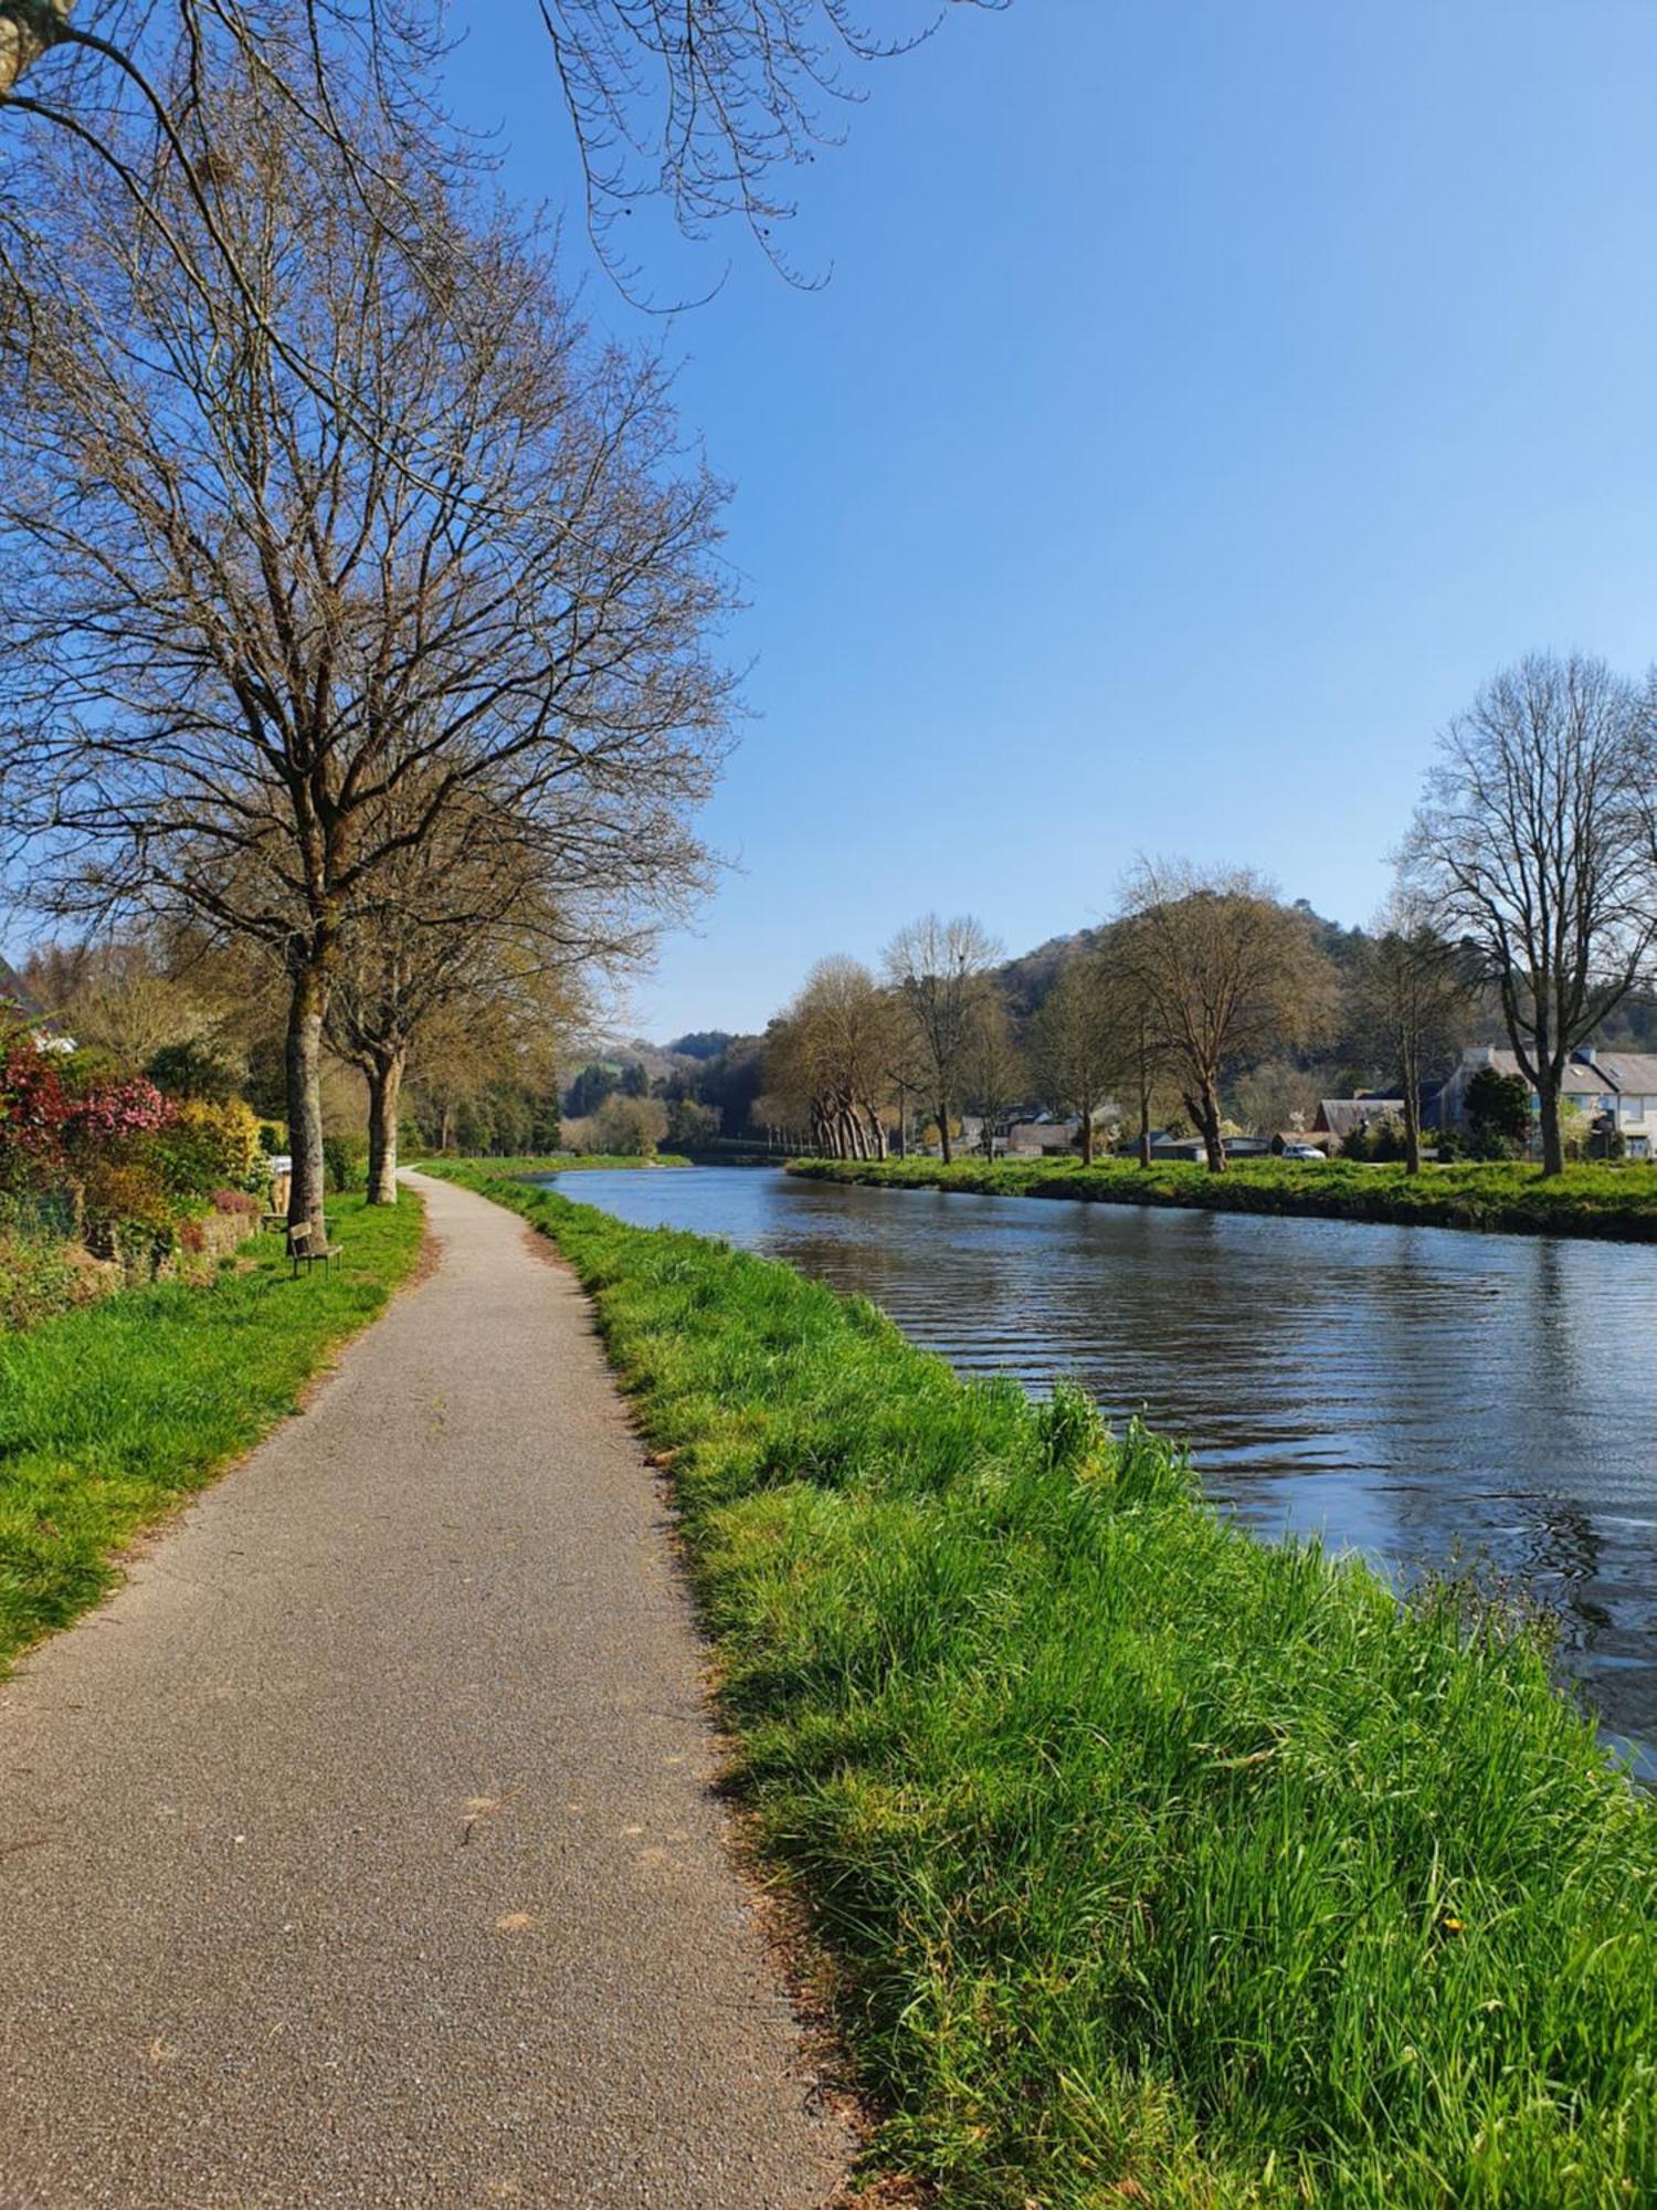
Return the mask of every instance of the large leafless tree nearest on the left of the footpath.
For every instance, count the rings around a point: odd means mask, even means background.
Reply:
[[[186,911],[281,957],[300,1220],[340,946],[400,853],[488,809],[568,902],[703,880],[727,583],[661,373],[588,345],[506,214],[426,179],[409,259],[329,133],[236,97],[205,192],[252,305],[113,245],[119,188],[71,161],[95,274],[35,336],[0,471],[0,818],[57,913]],[[197,219],[177,181],[166,206]]]

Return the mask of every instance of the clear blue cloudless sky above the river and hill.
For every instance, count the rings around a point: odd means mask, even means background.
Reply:
[[[535,11],[479,4],[455,104],[557,206]],[[1027,950],[1136,851],[1368,919],[1487,672],[1657,656],[1650,0],[1012,0],[868,93],[800,183],[824,290],[736,232],[652,261],[731,263],[665,327],[588,278],[751,601],[736,871],[632,1028],[758,1028],[928,906]]]

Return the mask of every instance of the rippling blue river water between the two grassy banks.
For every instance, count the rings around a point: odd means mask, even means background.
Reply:
[[[753,1167],[563,1185],[859,1291],[963,1375],[1074,1377],[1189,1441],[1209,1496],[1264,1534],[1522,1582],[1657,1779],[1657,1249]]]

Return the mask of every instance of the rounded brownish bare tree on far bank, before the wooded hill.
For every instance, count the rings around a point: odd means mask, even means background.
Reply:
[[[1306,1039],[1328,1014],[1330,966],[1304,917],[1239,869],[1142,860],[1122,919],[1116,957],[1144,1019],[1142,1065],[1169,1067],[1209,1171],[1224,1174],[1224,1072]]]

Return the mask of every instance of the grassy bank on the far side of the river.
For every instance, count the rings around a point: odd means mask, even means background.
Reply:
[[[802,1158],[789,1165],[820,1182],[877,1189],[961,1189],[1001,1198],[1080,1198],[1091,1204],[1178,1204],[1215,1213],[1288,1213],[1315,1220],[1392,1220],[1511,1235],[1595,1235],[1657,1242],[1657,1167],[1403,1167],[1246,1158],[1226,1174],[1206,1167],[1138,1167],[1109,1158]]]

